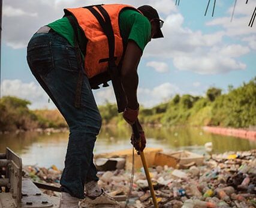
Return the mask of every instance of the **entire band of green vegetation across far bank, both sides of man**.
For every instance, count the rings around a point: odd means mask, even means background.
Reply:
[[[140,122],[147,125],[213,125],[248,128],[256,126],[256,77],[229,92],[210,88],[206,97],[175,95],[167,103],[153,108],[140,107]],[[67,126],[58,110],[29,110],[27,100],[2,97],[0,100],[0,131],[34,128],[60,128]],[[104,125],[123,125],[122,114],[116,104],[99,106]]]

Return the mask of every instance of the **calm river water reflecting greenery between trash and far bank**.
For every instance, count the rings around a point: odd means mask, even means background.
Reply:
[[[212,142],[213,152],[256,149],[256,142],[242,138],[223,136],[204,132],[201,128],[144,128],[148,147],[161,147],[166,151],[189,150],[206,153],[204,144]],[[97,138],[94,153],[113,152],[131,149],[129,128],[102,128]],[[64,167],[68,132],[40,133],[22,132],[1,134],[0,152],[6,147],[22,157],[23,164],[50,167]]]

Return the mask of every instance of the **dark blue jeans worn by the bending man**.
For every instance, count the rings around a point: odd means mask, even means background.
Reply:
[[[82,64],[76,49],[56,32],[35,34],[28,44],[27,60],[37,81],[64,116],[70,128],[61,190],[85,198],[85,182],[98,180],[93,150],[101,116],[88,78],[83,76],[81,107],[74,106]]]

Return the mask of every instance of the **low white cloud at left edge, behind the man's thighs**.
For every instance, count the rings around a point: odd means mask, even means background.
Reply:
[[[1,96],[16,96],[31,101],[29,108],[55,108],[43,89],[35,82],[23,83],[20,80],[3,80],[1,84]]]

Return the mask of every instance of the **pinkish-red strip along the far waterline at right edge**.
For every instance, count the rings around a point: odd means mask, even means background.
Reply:
[[[247,138],[249,140],[256,141],[256,131],[248,129],[236,129],[236,128],[222,128],[219,126],[204,126],[204,131],[212,132],[213,134],[231,135],[239,138]]]

